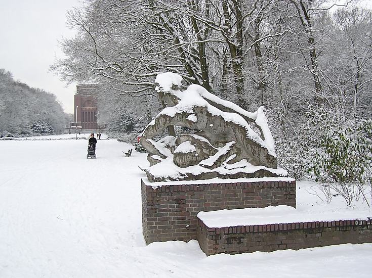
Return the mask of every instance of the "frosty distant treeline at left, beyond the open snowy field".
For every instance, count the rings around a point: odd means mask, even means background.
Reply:
[[[69,118],[55,95],[16,81],[11,72],[0,69],[0,135],[58,134]]]

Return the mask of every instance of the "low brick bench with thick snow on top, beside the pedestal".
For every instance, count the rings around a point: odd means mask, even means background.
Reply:
[[[206,255],[372,243],[371,215],[299,212],[290,206],[199,212],[197,239]]]

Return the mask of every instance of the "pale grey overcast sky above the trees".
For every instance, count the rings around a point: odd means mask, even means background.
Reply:
[[[361,2],[372,8],[372,0]],[[57,40],[73,36],[66,12],[77,6],[79,0],[0,0],[0,68],[55,94],[67,113],[73,113],[76,84],[66,87],[48,69],[55,56],[62,57]]]

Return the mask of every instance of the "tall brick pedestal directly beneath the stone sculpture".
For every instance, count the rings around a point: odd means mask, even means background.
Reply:
[[[296,207],[296,181],[179,183],[156,189],[148,184],[142,180],[142,227],[146,244],[196,239],[199,211],[270,205]]]

